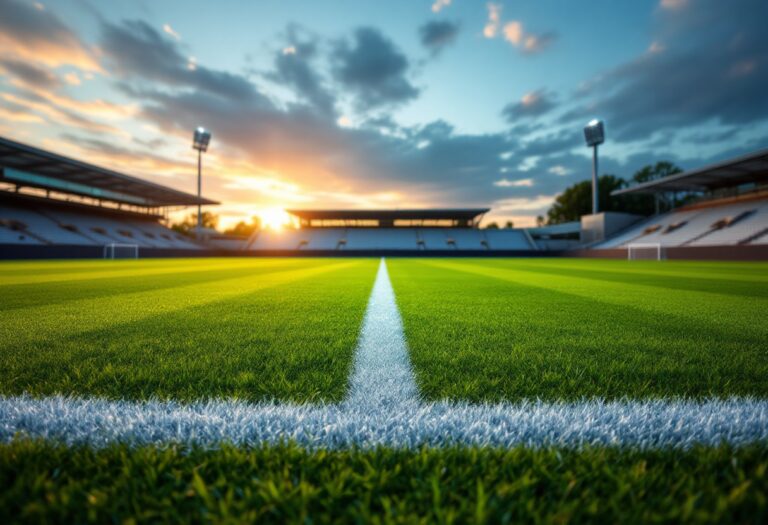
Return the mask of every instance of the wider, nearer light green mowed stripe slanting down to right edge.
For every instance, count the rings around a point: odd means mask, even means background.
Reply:
[[[663,283],[638,284],[634,276],[625,281],[610,282],[597,277],[561,274],[542,274],[531,268],[517,267],[513,260],[428,261],[423,264],[483,275],[537,288],[545,288],[605,303],[639,308],[660,316],[683,316],[723,330],[765,336],[762,312],[768,308],[768,297],[743,297],[708,290],[670,290]],[[758,285],[756,285],[758,286]]]

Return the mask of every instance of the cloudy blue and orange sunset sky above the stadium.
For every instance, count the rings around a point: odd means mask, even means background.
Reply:
[[[768,147],[765,0],[0,0],[0,135],[290,208],[490,207]]]

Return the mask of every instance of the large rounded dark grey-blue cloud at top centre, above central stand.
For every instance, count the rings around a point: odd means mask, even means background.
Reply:
[[[337,42],[331,59],[334,78],[356,96],[361,110],[401,104],[419,95],[407,78],[408,58],[377,29],[362,27],[351,43]]]

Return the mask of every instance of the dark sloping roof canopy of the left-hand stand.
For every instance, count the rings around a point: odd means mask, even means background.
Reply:
[[[141,207],[219,204],[0,137],[0,182]]]

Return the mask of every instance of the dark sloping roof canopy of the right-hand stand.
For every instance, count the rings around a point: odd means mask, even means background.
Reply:
[[[611,195],[662,193],[672,191],[712,191],[741,184],[768,182],[768,149],[756,151],[695,170],[670,175],[629,188],[616,190]]]

